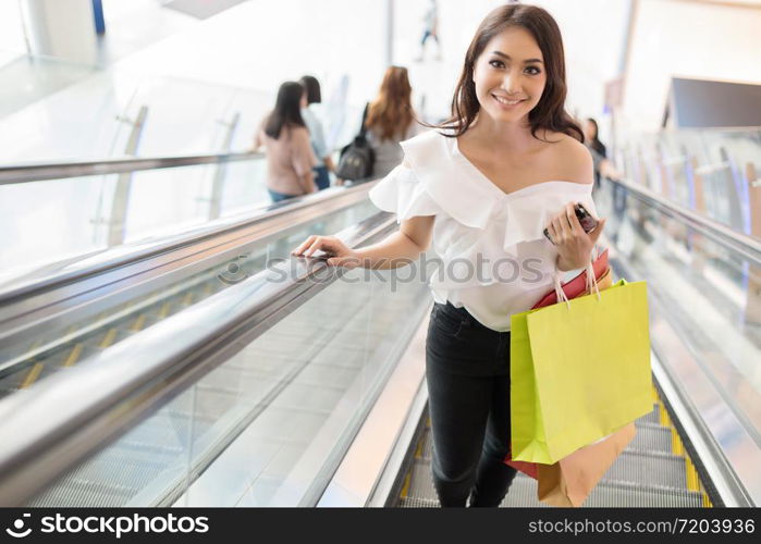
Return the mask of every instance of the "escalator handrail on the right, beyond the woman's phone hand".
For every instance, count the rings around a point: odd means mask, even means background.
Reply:
[[[695,210],[668,200],[636,182],[629,180],[606,180],[610,183],[619,185],[646,205],[665,212],[686,226],[717,242],[720,245],[737,251],[752,261],[752,263],[761,265],[761,240],[758,238],[738,233],[713,219],[701,215]]]

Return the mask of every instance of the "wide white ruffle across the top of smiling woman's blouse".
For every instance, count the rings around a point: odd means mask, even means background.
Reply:
[[[551,218],[569,201],[584,203],[597,217],[592,184],[549,181],[505,194],[459,152],[455,138],[431,131],[403,141],[402,148],[404,162],[369,193],[378,208],[395,212],[398,221],[449,215],[486,230],[504,220],[502,248],[516,255],[518,244],[544,238]]]

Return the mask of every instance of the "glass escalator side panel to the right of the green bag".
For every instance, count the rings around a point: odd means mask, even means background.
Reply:
[[[668,363],[740,480],[761,483],[752,468],[761,461],[759,262],[615,183],[604,184],[596,201],[627,272],[648,281],[653,349],[674,353],[668,338],[686,346]],[[696,361],[696,371],[685,361]]]

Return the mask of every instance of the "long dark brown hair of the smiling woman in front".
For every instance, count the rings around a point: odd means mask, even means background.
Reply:
[[[445,129],[444,135],[451,137],[462,136],[470,127],[480,110],[472,81],[476,61],[494,36],[514,26],[525,28],[533,36],[544,58],[544,91],[528,114],[531,135],[536,138],[539,129],[547,129],[584,141],[581,127],[565,111],[565,53],[557,23],[541,8],[515,3],[493,10],[476,30],[452,99],[452,116],[437,127]]]

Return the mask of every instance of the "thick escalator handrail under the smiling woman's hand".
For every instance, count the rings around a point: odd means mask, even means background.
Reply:
[[[358,247],[395,228],[379,212],[336,236]],[[344,273],[291,258],[0,400],[0,505],[28,500]]]

